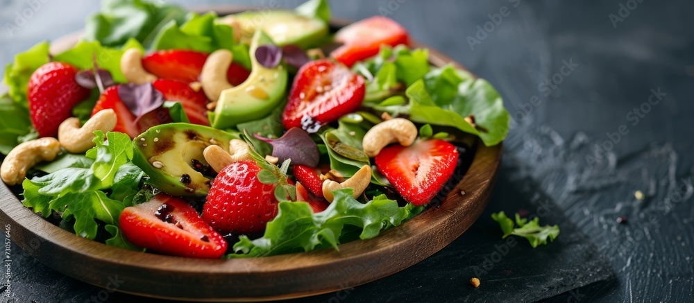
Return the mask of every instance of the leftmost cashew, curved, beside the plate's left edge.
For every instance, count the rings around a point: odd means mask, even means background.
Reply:
[[[0,177],[8,185],[24,180],[26,171],[43,161],[53,161],[60,153],[60,142],[46,137],[19,144],[5,157],[0,166]]]

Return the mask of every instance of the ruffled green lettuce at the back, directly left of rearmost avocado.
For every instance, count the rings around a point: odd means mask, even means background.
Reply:
[[[153,49],[189,49],[205,53],[228,49],[234,54],[234,62],[251,69],[248,46],[237,44],[233,39],[233,29],[228,25],[216,24],[214,19],[217,19],[214,12],[205,15],[191,12],[187,21],[180,26],[180,22],[169,21],[154,38]]]

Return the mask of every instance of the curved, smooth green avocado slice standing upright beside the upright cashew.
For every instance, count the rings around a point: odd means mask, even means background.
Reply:
[[[232,128],[238,123],[261,119],[278,107],[285,98],[287,69],[262,66],[255,58],[258,46],[273,44],[263,31],[255,32],[251,42],[251,75],[237,87],[221,92],[214,113],[210,114],[213,128]]]

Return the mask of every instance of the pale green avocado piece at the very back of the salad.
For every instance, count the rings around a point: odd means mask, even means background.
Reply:
[[[329,31],[325,21],[305,17],[291,10],[248,11],[221,17],[216,22],[236,28],[241,40],[245,42],[251,40],[260,28],[278,46],[294,44],[304,49],[319,45]]]

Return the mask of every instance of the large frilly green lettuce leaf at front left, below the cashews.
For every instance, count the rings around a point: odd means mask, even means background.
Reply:
[[[136,250],[119,231],[119,216],[127,196],[135,196],[144,173],[130,163],[133,142],[119,132],[95,132],[96,147],[87,152],[94,163],[89,168],[62,168],[32,180],[26,179],[22,204],[44,217],[52,211],[62,214],[63,220],[74,218],[78,236],[95,239],[100,223],[111,234],[105,242],[120,248]],[[104,141],[108,139],[108,141]],[[110,197],[105,193],[110,190]],[[132,200],[132,199],[130,199]]]

